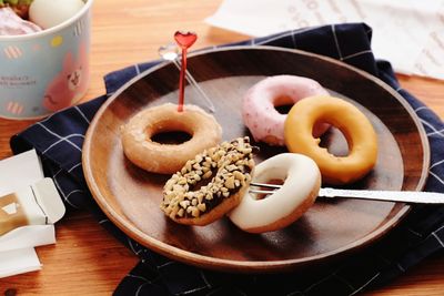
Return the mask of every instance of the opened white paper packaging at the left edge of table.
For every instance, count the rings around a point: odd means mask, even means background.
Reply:
[[[44,178],[36,151],[0,161],[0,228],[4,233],[0,235],[0,277],[40,269],[33,247],[56,243],[53,223],[65,208],[53,181]],[[26,216],[24,222],[22,217],[18,221],[27,226],[7,231],[11,226],[2,226],[2,222],[18,213]]]

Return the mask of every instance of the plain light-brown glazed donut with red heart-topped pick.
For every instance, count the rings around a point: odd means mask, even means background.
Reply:
[[[181,131],[192,137],[181,144],[161,144],[151,137],[162,132]],[[215,119],[195,105],[167,103],[140,111],[122,129],[124,155],[139,167],[153,173],[172,174],[198,153],[220,143],[222,127]]]

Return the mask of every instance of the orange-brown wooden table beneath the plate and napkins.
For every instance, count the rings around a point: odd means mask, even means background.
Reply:
[[[198,32],[193,49],[249,37],[203,22],[221,0],[95,0],[93,6],[92,81],[84,101],[104,93],[102,76],[113,70],[158,58],[158,48],[176,30]],[[186,3],[186,6],[185,6]],[[398,75],[402,86],[444,118],[444,83]],[[9,139],[32,121],[0,120],[0,157],[11,155]],[[38,248],[40,272],[0,279],[1,295],[109,295],[138,262],[91,215],[70,213],[57,224],[57,245]],[[1,263],[0,263],[1,264]],[[444,295],[444,255],[435,255],[386,287],[365,295]]]

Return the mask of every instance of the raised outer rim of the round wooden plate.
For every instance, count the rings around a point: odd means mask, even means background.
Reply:
[[[209,54],[213,52],[221,52],[221,51],[235,51],[235,50],[265,50],[265,51],[278,51],[278,52],[290,52],[290,53],[296,53],[301,55],[309,55],[311,58],[320,59],[325,62],[334,63],[343,68],[347,68],[349,70],[355,72],[359,75],[364,76],[365,79],[371,80],[372,82],[379,84],[381,88],[383,88],[385,91],[387,91],[393,98],[396,99],[396,101],[406,110],[406,112],[410,114],[412,121],[415,124],[415,127],[420,134],[421,139],[421,145],[423,149],[423,163],[422,163],[422,170],[421,170],[421,177],[417,182],[415,191],[422,191],[425,186],[425,183],[427,181],[428,174],[426,172],[428,171],[430,167],[430,162],[431,162],[431,152],[430,152],[430,143],[425,133],[424,126],[421,124],[421,121],[416,113],[414,112],[414,109],[406,102],[406,100],[397,93],[392,86],[390,86],[387,83],[385,83],[383,80],[381,80],[377,76],[374,76],[373,74],[365,72],[364,70],[357,69],[354,65],[347,64],[345,62],[342,62],[340,60],[335,60],[334,58],[321,55],[317,53],[312,53],[299,49],[286,49],[286,48],[280,48],[280,47],[272,47],[272,45],[228,45],[228,47],[222,47],[222,48],[210,48],[210,49],[201,49],[193,51],[189,54],[189,58],[192,59],[193,57],[202,55],[202,54]],[[210,268],[210,269],[218,269],[218,271],[226,271],[226,272],[275,272],[275,271],[285,271],[285,269],[293,269],[295,266],[300,265],[306,265],[306,264],[314,264],[320,261],[324,261],[326,258],[331,258],[333,256],[344,254],[345,252],[351,252],[351,251],[356,251],[360,247],[365,247],[376,239],[381,238],[384,236],[390,229],[396,227],[403,217],[410,212],[411,206],[407,204],[404,204],[404,206],[396,213],[396,215],[392,216],[383,226],[377,227],[375,231],[371,232],[370,234],[366,234],[365,236],[361,237],[357,241],[354,241],[350,244],[346,244],[340,248],[335,248],[334,251],[309,256],[309,257],[303,257],[303,258],[293,258],[293,259],[282,259],[282,261],[235,261],[235,259],[223,259],[223,258],[215,258],[212,256],[206,256],[206,255],[201,255],[196,254],[190,251],[184,251],[182,248],[172,246],[170,244],[167,244],[162,241],[159,241],[157,238],[153,238],[149,236],[148,234],[143,233],[141,229],[139,229],[131,221],[123,214],[120,215],[114,211],[114,208],[108,203],[107,197],[102,196],[100,188],[97,186],[95,182],[92,180],[93,174],[91,172],[91,169],[87,166],[85,164],[90,162],[89,153],[85,153],[90,151],[91,142],[92,142],[92,134],[93,134],[93,129],[98,124],[99,119],[102,116],[102,114],[105,112],[108,106],[123,92],[125,91],[131,84],[134,82],[139,81],[143,76],[158,71],[159,69],[167,67],[171,62],[169,61],[163,61],[160,62],[150,69],[142,71],[140,74],[135,75],[128,82],[125,82],[123,85],[121,85],[108,100],[100,106],[95,115],[93,116],[88,131],[85,133],[84,142],[82,145],[82,170],[84,174],[84,178],[87,182],[88,187],[91,191],[91,195],[93,198],[97,201],[99,204],[100,208],[104,212],[104,214],[112,221],[115,226],[118,226],[121,231],[123,231],[129,237],[132,239],[137,241],[139,244],[143,245],[144,247],[148,247],[154,252],[158,252],[169,258],[176,259],[186,264],[195,265],[199,267],[203,268]],[[147,243],[148,242],[148,243]]]

